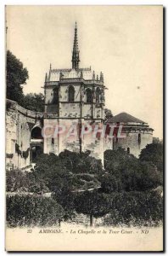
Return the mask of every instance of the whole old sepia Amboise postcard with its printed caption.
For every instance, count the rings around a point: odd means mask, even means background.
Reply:
[[[163,251],[163,7],[6,6],[6,250]]]

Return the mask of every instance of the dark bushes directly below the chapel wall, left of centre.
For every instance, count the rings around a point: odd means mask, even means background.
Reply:
[[[70,190],[98,187],[99,172],[102,173],[101,161],[89,156],[88,152],[78,154],[68,150],[59,156],[41,154],[36,160],[34,171],[53,192],[62,191],[64,187]]]

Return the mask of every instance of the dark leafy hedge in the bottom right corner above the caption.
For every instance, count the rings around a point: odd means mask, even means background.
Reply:
[[[163,218],[163,200],[155,191],[112,193],[105,225],[158,225]]]

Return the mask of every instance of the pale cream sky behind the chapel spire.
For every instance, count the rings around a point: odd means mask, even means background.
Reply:
[[[24,93],[42,92],[45,73],[70,68],[75,22],[80,67],[104,73],[105,105],[143,119],[163,137],[161,6],[8,6],[7,49],[29,72]]]

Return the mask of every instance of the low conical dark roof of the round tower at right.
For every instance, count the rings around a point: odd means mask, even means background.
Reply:
[[[143,124],[146,123],[143,120],[137,119],[131,114],[125,113],[125,112],[116,114],[114,117],[110,118],[108,122],[109,123],[143,123]]]

